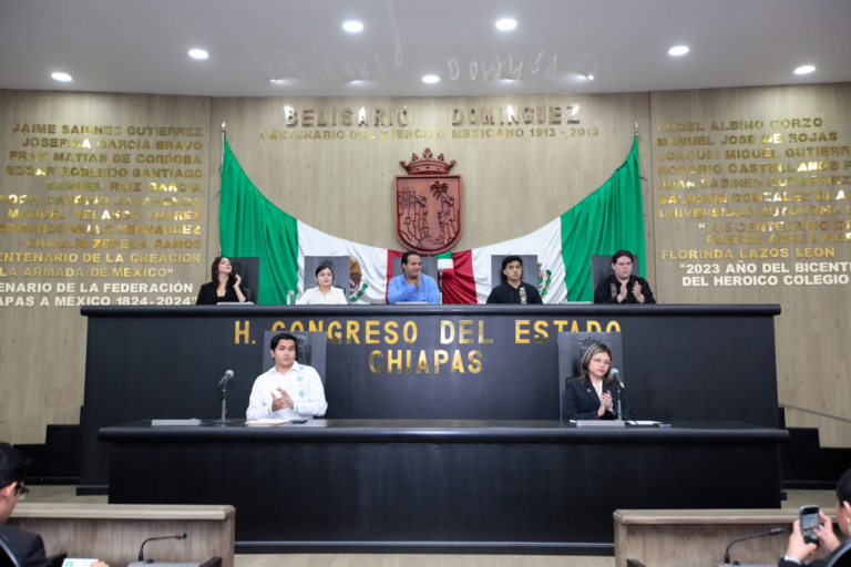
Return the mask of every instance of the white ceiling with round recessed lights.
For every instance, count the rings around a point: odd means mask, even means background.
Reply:
[[[517,28],[496,30],[506,17]],[[365,30],[344,31],[347,20]],[[0,87],[453,96],[828,83],[851,81],[850,24],[851,0],[0,0]],[[678,44],[690,52],[668,55]],[[817,71],[792,74],[803,64]]]

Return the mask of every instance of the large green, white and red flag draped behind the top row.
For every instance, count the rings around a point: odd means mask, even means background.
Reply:
[[[468,228],[469,229],[469,228]],[[245,173],[225,141],[219,203],[224,256],[259,257],[260,305],[286,303],[314,286],[305,274],[307,256],[350,258],[350,301],[386,299],[398,250],[366,246],[317,230],[275,206]],[[626,162],[598,189],[534,233],[473,250],[439,256],[444,303],[483,303],[491,292],[491,256],[536,255],[544,303],[591,300],[591,256],[626,248],[644,256],[638,143]],[[644,276],[644,265],[639,268]],[[535,269],[525,267],[524,269]]]

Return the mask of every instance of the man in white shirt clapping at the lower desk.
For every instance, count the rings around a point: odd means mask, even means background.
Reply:
[[[269,347],[275,367],[254,381],[246,417],[312,420],[315,415],[325,415],[328,402],[322,381],[312,367],[296,363],[296,337],[278,333]]]

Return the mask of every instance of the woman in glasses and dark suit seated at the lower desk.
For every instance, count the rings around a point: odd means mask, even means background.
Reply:
[[[616,420],[617,383],[612,377],[612,351],[595,342],[582,357],[580,378],[567,380],[562,404],[563,420]],[[621,390],[621,415],[634,420],[626,392]]]

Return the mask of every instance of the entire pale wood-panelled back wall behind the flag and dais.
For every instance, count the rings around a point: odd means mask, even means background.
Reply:
[[[689,195],[703,194],[755,194],[769,189],[768,182],[781,176],[779,173],[732,174],[730,165],[750,165],[759,163],[779,163],[782,167],[801,162],[824,162],[827,172],[799,173],[782,172],[782,177],[803,177],[818,175],[838,176],[841,179],[851,174],[848,156],[826,156],[813,158],[787,158],[786,151],[798,148],[827,146],[839,148],[850,144],[851,132],[851,85],[807,85],[758,89],[721,89],[704,91],[679,91],[656,93],[625,93],[601,95],[539,95],[539,96],[492,96],[478,99],[205,99],[180,96],[148,95],[113,95],[96,93],[43,93],[24,91],[0,92],[0,156],[3,162],[3,175],[0,184],[0,195],[35,194],[42,195],[45,178],[40,176],[10,175],[6,171],[9,165],[17,165],[11,152],[25,150],[22,147],[22,135],[13,132],[16,124],[21,122],[45,123],[58,125],[121,125],[135,126],[197,126],[202,127],[202,150],[193,152],[202,156],[199,167],[204,171],[199,198],[201,220],[203,225],[201,240],[201,261],[175,266],[174,271],[164,278],[168,282],[189,282],[197,286],[206,279],[207,264],[216,255],[218,248],[217,223],[218,200],[208,198],[219,189],[218,176],[215,174],[219,165],[222,122],[227,123],[230,145],[255,184],[269,199],[295,217],[334,236],[357,240],[363,244],[398,249],[401,247],[393,233],[393,176],[404,171],[398,165],[401,159],[410,159],[412,153],[421,155],[426,147],[435,154],[443,153],[448,159],[457,159],[453,173],[464,176],[464,235],[455,247],[457,250],[469,249],[486,244],[505,240],[527,234],[557,215],[574,206],[588,193],[604,183],[612,172],[619,166],[633,141],[635,122],[638,122],[642,135],[640,158],[644,183],[646,231],[647,231],[647,274],[660,302],[779,302],[783,315],[777,320],[777,362],[778,386],[780,401],[806,409],[851,417],[843,401],[849,398],[848,354],[844,349],[844,336],[848,334],[849,308],[848,286],[800,286],[783,285],[761,287],[707,287],[684,286],[686,276],[685,265],[709,264],[718,265],[719,270],[728,266],[755,264],[761,274],[762,264],[781,265],[780,269],[794,268],[796,248],[832,247],[834,261],[848,262],[848,243],[817,244],[769,244],[766,240],[772,236],[786,237],[788,231],[763,233],[763,244],[746,245],[708,245],[708,235],[736,236],[735,227],[738,221],[762,221],[766,219],[749,218],[731,220],[725,218],[706,219],[711,224],[732,224],[730,233],[709,233],[699,228],[704,219],[695,218],[660,218],[668,209],[695,208],[695,204],[662,204],[660,195],[668,197],[680,195],[688,199]],[[505,109],[509,104],[523,105],[567,105],[580,104],[578,124],[520,124],[489,126],[493,128],[494,137],[473,137],[473,130],[481,133],[482,125],[465,124],[453,127],[452,109]],[[351,107],[356,113],[362,106],[371,111],[375,107],[390,107],[410,111],[410,123],[403,127],[287,127],[285,106],[298,111],[311,107],[315,110]],[[777,127],[769,125],[772,120],[820,118],[818,127]],[[499,120],[499,118],[498,118]],[[735,146],[735,150],[775,147],[777,158],[737,159],[725,156],[725,147],[720,145],[721,136],[728,131],[711,131],[712,122],[757,121],[765,122],[761,130],[741,131],[738,134],[753,134],[753,144]],[[656,132],[660,124],[699,123],[703,132],[671,133]],[[511,127],[522,128],[523,137],[495,137],[496,131]],[[532,136],[531,128],[555,128],[555,136]],[[597,128],[596,136],[570,136],[571,130]],[[686,126],[687,128],[687,126]],[[305,132],[305,131],[342,131],[342,140],[263,140],[260,133],[269,131]],[[389,140],[381,137],[381,131],[399,130],[412,133],[427,132],[426,138]],[[443,131],[443,137],[437,132]],[[471,137],[453,137],[453,131],[470,131]],[[428,131],[433,131],[428,137]],[[366,138],[352,140],[351,133],[361,132]],[[762,144],[762,134],[781,135],[783,144]],[[834,141],[810,143],[789,143],[788,134],[826,134],[835,133]],[[680,137],[681,134],[691,136],[703,135],[712,140],[711,150],[720,152],[714,159],[683,159],[668,162],[659,155],[658,140],[660,137]],[[357,134],[356,134],[357,135]],[[516,135],[516,134],[515,134]],[[370,138],[369,136],[372,136]],[[37,137],[44,137],[39,134]],[[47,136],[51,137],[51,136]],[[55,137],[83,137],[61,136]],[[116,138],[135,140],[140,136],[124,135]],[[156,136],[142,136],[156,140]],[[684,136],[688,137],[688,136]],[[176,142],[178,136],[165,136],[163,140]],[[700,150],[704,146],[697,146]],[[731,147],[731,146],[730,146]],[[707,147],[708,148],[708,147]],[[38,148],[37,148],[38,150]],[[667,148],[666,151],[669,151]],[[675,148],[684,150],[689,147]],[[695,150],[693,147],[691,150]],[[48,162],[53,159],[55,148],[48,148]],[[44,152],[44,148],[41,150]],[[93,148],[92,153],[101,153]],[[820,152],[820,151],[819,151]],[[112,159],[114,151],[107,151]],[[126,152],[135,156],[140,151]],[[180,152],[154,151],[152,154],[173,155]],[[676,154],[675,154],[676,155]],[[706,175],[662,175],[660,166],[679,165],[719,165],[720,173]],[[834,171],[830,171],[831,162],[837,162]],[[28,166],[29,163],[21,162]],[[51,165],[50,163],[48,165]],[[55,164],[52,164],[55,165]],[[99,164],[100,165],[100,164]],[[111,164],[107,164],[111,165]],[[139,167],[130,164],[127,167]],[[708,183],[730,178],[749,178],[750,184],[759,181],[759,187],[742,189],[659,189],[663,182],[693,181],[699,185],[700,179]],[[104,178],[105,183],[114,179]],[[851,189],[851,186],[835,185],[831,187],[786,187],[772,193],[810,190],[810,199],[816,190],[833,192],[832,204],[841,208],[841,214],[830,215],[827,220],[831,230],[804,230],[822,239],[822,233],[841,236],[837,221],[851,219],[847,214],[845,203],[835,200],[839,189]],[[72,193],[72,192],[65,192]],[[109,190],[106,192],[110,193]],[[142,190],[145,195],[146,192]],[[810,203],[809,205],[818,205]],[[851,203],[850,203],[851,204]],[[759,206],[776,204],[762,203]],[[779,206],[796,206],[793,203],[780,203]],[[799,203],[797,206],[800,206]],[[746,208],[750,204],[728,204],[734,209]],[[712,208],[712,206],[699,206]],[[40,205],[16,206],[8,202],[0,203],[0,215],[8,223],[8,210],[12,208],[51,209],[57,207]],[[65,206],[65,214],[73,214],[81,207]],[[113,209],[115,207],[83,207],[96,209]],[[130,207],[125,207],[130,208]],[[757,213],[759,214],[759,213]],[[783,219],[767,217],[769,221]],[[792,218],[787,218],[794,220]],[[717,220],[724,220],[718,223]],[[806,218],[803,220],[812,220]],[[817,216],[816,220],[826,220]],[[65,224],[71,224],[66,220]],[[113,221],[112,224],[117,224]],[[164,223],[161,223],[164,224]],[[721,230],[724,230],[721,228]],[[848,231],[851,231],[849,229]],[[796,233],[796,231],[792,231]],[[796,237],[801,236],[796,233]],[[31,235],[30,235],[31,238]],[[88,235],[86,238],[94,238]],[[146,241],[153,237],[141,237]],[[25,248],[28,235],[0,234],[0,252],[22,251]],[[787,248],[791,258],[738,260],[738,254],[749,254],[760,248]],[[703,254],[703,250],[729,250],[734,258],[695,261],[677,258],[680,250]],[[47,250],[44,250],[47,251]],[[109,251],[109,250],[107,250]],[[194,251],[194,250],[193,250]],[[667,259],[668,256],[674,259]],[[808,258],[811,260],[811,258]],[[683,267],[680,266],[683,265]],[[0,262],[6,276],[0,276],[0,282],[9,282],[9,262]],[[111,268],[110,268],[111,269]],[[793,276],[794,274],[792,274]],[[714,276],[714,275],[710,275]],[[718,274],[727,276],[727,274]],[[739,275],[741,276],[741,275]],[[782,278],[785,274],[778,274]],[[63,278],[64,280],[65,278]],[[73,278],[72,278],[73,279]],[[86,284],[92,279],[86,276],[78,278]],[[107,278],[109,279],[109,278]],[[130,278],[132,279],[132,278]],[[709,284],[714,280],[706,278]],[[45,278],[17,278],[16,281],[45,281]],[[54,284],[59,280],[54,280]],[[16,293],[6,293],[6,296]],[[20,295],[20,293],[17,293]],[[16,295],[16,296],[17,296]],[[55,295],[55,293],[54,293]],[[38,296],[38,295],[37,295]],[[112,293],[115,297],[115,293]],[[51,299],[51,302],[53,299]],[[3,307],[0,320],[0,439],[17,443],[38,442],[43,439],[44,425],[48,423],[73,423],[79,419],[79,408],[82,403],[82,383],[85,346],[85,321],[74,307]],[[49,338],[49,341],[45,339]],[[767,353],[755,353],[755,363]],[[747,369],[742,369],[742,379],[747,379]],[[789,412],[790,425],[811,424],[809,417],[801,412]],[[798,420],[798,421],[796,421]],[[829,419],[820,419],[818,426],[822,431],[822,442],[848,446],[847,426],[843,422],[830,423]]]

